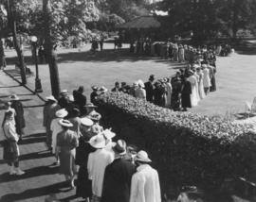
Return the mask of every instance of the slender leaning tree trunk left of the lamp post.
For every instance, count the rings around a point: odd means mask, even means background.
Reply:
[[[23,56],[23,51],[22,51],[22,49],[20,47],[20,43],[18,42],[18,39],[17,39],[16,21],[14,20],[13,12],[12,12],[13,0],[10,0],[10,2],[11,3],[9,3],[9,0],[7,1],[8,23],[9,23],[9,28],[11,30],[12,37],[13,37],[14,48],[17,52],[17,56],[18,56],[18,60],[19,60],[19,68],[21,70],[22,84],[25,85],[25,84],[27,84],[26,65],[25,65],[25,60],[24,60],[24,56]]]

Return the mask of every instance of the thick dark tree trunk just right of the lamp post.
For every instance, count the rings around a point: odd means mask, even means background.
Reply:
[[[43,12],[45,13],[45,50],[46,50],[46,62],[49,65],[51,92],[55,98],[59,98],[60,94],[60,79],[57,64],[57,56],[53,48],[50,24],[51,13],[49,9],[49,1],[43,0]]]

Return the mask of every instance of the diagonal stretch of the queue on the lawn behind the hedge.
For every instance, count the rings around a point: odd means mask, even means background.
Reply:
[[[139,79],[132,86],[117,81],[112,92],[128,93],[174,110],[197,106],[208,93],[216,91],[216,54],[206,46],[198,50],[191,47],[190,50],[185,56],[181,54],[181,60],[188,62],[187,67],[179,69],[175,76],[155,80],[151,75],[147,82]],[[180,59],[179,54],[176,57]]]

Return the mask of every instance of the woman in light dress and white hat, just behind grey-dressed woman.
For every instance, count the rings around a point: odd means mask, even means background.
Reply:
[[[52,153],[55,154],[56,164],[60,164],[58,152],[56,151],[57,147],[57,134],[63,130],[63,127],[59,124],[59,122],[68,114],[67,110],[60,109],[55,113],[56,118],[51,121],[50,131],[51,131],[51,147]]]

